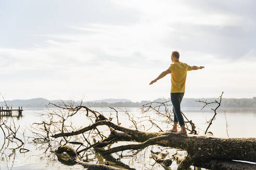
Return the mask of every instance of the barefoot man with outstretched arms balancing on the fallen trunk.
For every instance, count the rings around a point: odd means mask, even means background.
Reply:
[[[181,101],[185,92],[185,83],[187,77],[187,71],[202,69],[204,66],[189,66],[186,63],[182,63],[179,61],[180,54],[177,51],[172,52],[172,62],[171,66],[161,73],[155,80],[152,80],[149,84],[153,84],[157,80],[163,78],[164,76],[171,74],[171,101],[173,105],[173,113],[174,113],[174,124],[173,128],[170,130],[171,132],[176,132],[176,134],[186,134],[187,131],[185,129],[185,122],[183,116],[181,114]],[[181,131],[177,132],[177,124],[180,124]]]

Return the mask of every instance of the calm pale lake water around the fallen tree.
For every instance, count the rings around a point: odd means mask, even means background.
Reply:
[[[109,116],[109,108],[93,108],[99,112],[103,112],[104,115]],[[30,125],[34,122],[42,121],[42,113],[45,113],[45,109],[25,109],[23,111],[23,117],[20,119],[14,118],[16,126],[20,125],[20,132],[25,130],[25,136],[32,136],[33,134],[29,131],[31,129]],[[136,117],[142,117],[143,115],[140,112],[139,108],[127,108],[127,111]],[[206,120],[209,120],[213,116],[213,111],[206,108],[200,110],[199,108],[183,108],[182,111],[189,120],[193,120],[195,123],[199,134],[203,134],[204,130],[208,124]],[[224,114],[225,112],[225,114]],[[115,112],[112,111],[114,116]],[[106,116],[106,117],[107,117]],[[225,118],[226,117],[226,118]],[[152,116],[152,119],[157,119],[156,116]],[[76,125],[86,126],[84,121],[81,119],[73,120]],[[119,121],[122,123],[122,126],[129,127],[132,125],[131,122],[127,121],[127,115],[119,110]],[[227,122],[227,123],[226,123]],[[209,131],[211,131],[216,137],[256,137],[256,109],[252,108],[220,108],[217,111],[216,119],[213,121]],[[170,129],[170,125],[166,123],[158,124],[162,130]],[[145,124],[145,130],[147,130],[148,124]],[[149,131],[157,131],[157,129],[150,129]],[[81,165],[72,165],[68,166],[62,164],[58,161],[56,155],[52,152],[54,148],[48,148],[45,145],[33,144],[28,141],[22,146],[22,148],[29,149],[29,152],[20,153],[19,149],[12,149],[17,147],[16,144],[4,144],[3,136],[1,132],[0,140],[0,153],[1,153],[1,162],[0,170],[3,169],[85,169]],[[21,134],[19,134],[21,135]],[[21,135],[22,136],[22,135]],[[23,138],[22,138],[23,140]],[[127,144],[127,142],[122,142]],[[115,144],[115,145],[122,145]],[[48,149],[47,149],[48,148]],[[47,149],[47,150],[46,150]],[[155,164],[155,161],[150,158],[150,150],[158,151],[162,149],[157,146],[150,146],[149,148],[139,150],[137,154],[133,157],[123,157],[121,159],[122,163],[125,163],[131,167],[131,169],[164,169],[159,164]],[[164,149],[168,150],[171,154],[176,152],[175,149]],[[136,151],[135,151],[136,152]],[[124,151],[125,153],[131,153],[131,151]],[[118,158],[116,153],[113,154],[114,158]],[[92,157],[92,162],[94,163],[104,163],[106,160],[99,155],[94,155]],[[172,169],[176,168],[176,164],[173,163],[171,166]]]

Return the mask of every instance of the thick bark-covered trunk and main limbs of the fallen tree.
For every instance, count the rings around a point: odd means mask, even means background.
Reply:
[[[256,138],[217,138],[213,137],[211,133],[207,135],[176,135],[172,132],[149,133],[127,129],[109,120],[98,121],[79,131],[59,133],[53,135],[53,137],[79,135],[95,129],[98,125],[107,125],[125,134],[114,135],[114,133],[111,133],[108,138],[101,141],[103,144],[105,141],[109,141],[110,138],[116,138],[115,141],[126,140],[139,142],[139,144],[118,146],[108,150],[102,149],[102,154],[111,154],[128,149],[137,150],[150,145],[159,145],[187,151],[188,155],[180,161],[178,169],[187,169],[190,165],[193,165],[194,162],[208,162],[209,160],[216,159],[256,162]],[[203,167],[204,164],[202,163],[201,165],[201,167]],[[256,168],[256,165],[254,165],[254,167]],[[208,166],[206,168],[208,168]]]

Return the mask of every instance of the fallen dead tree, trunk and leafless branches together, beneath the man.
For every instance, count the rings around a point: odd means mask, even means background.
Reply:
[[[220,103],[221,100],[218,104],[220,105]],[[58,107],[58,105],[55,106]],[[106,156],[111,157],[108,159],[113,161],[112,153],[120,154],[122,152],[121,155],[123,157],[123,151],[140,151],[148,146],[155,145],[164,148],[177,148],[187,152],[187,157],[182,159],[178,169],[187,169],[190,165],[198,162],[200,162],[200,167],[208,167],[209,161],[220,159],[224,160],[223,162],[227,166],[231,160],[255,162],[255,138],[217,138],[213,137],[210,132],[205,135],[176,135],[172,132],[164,132],[165,130],[160,127],[159,123],[172,123],[173,121],[171,109],[168,106],[170,105],[165,102],[144,105],[142,117],[135,117],[127,110],[120,109],[127,118],[124,122],[120,122],[117,109],[114,109],[117,113],[116,117],[111,117],[110,115],[109,119],[107,119],[106,117],[108,116],[105,117],[100,112],[87,106],[61,104],[58,107],[59,109],[49,110],[48,114],[45,115],[48,119],[45,118],[43,122],[34,124],[34,129],[37,130],[35,134],[40,135],[49,144],[52,144],[52,141],[57,141],[58,145],[66,147],[66,153],[68,153],[68,150],[76,150],[77,156],[70,152],[70,156],[75,155],[75,159],[70,160],[73,163],[79,162],[78,159],[82,159],[84,154],[89,152],[97,152],[105,158]],[[215,110],[215,115],[216,109],[213,109],[213,111]],[[75,120],[75,116],[79,117],[80,120],[83,119],[81,126],[73,123],[72,120]],[[209,124],[212,124],[214,117]],[[159,130],[160,132],[144,132],[140,130],[142,128],[147,129],[145,122],[150,123],[154,128],[150,130]],[[189,123],[187,129],[195,133],[194,123],[192,121],[189,122],[188,119],[187,123]],[[65,141],[65,143],[62,143],[62,141]],[[129,143],[114,145],[120,141]],[[76,144],[79,147],[74,146]],[[122,157],[119,159],[122,159]],[[118,160],[113,161],[112,165],[117,166],[118,162]],[[120,166],[123,169],[131,169],[125,164]],[[232,166],[230,164],[230,167]],[[96,167],[94,168],[96,169]],[[218,168],[221,169],[220,166]]]

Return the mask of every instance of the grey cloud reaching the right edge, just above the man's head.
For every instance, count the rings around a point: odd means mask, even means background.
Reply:
[[[213,54],[219,59],[236,60],[254,49],[254,30],[240,26],[176,25],[163,45],[182,51],[198,51]]]

